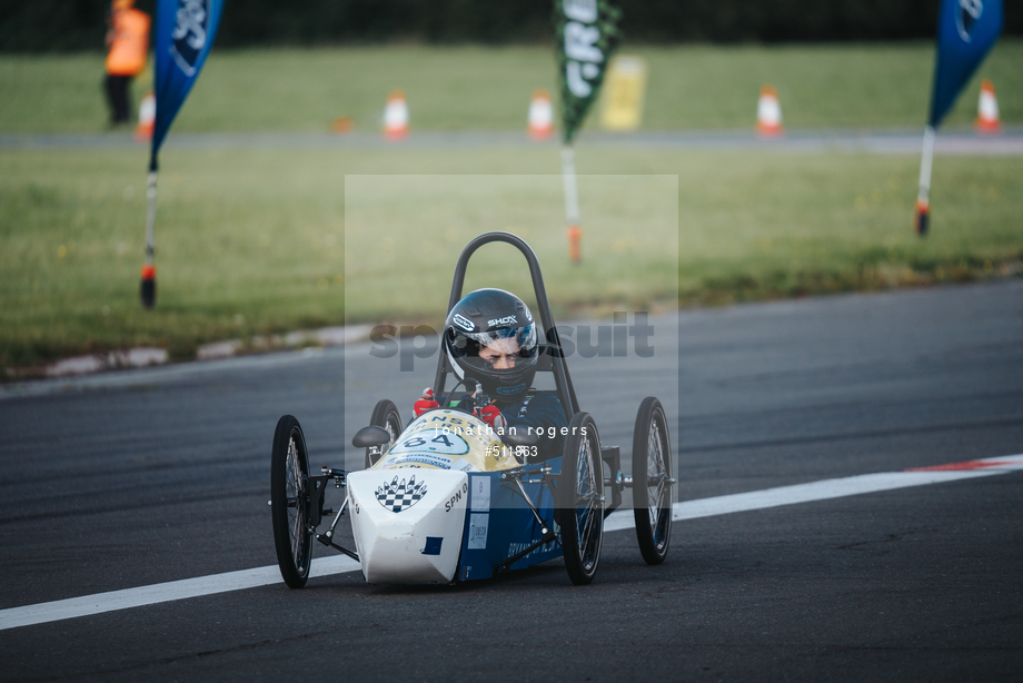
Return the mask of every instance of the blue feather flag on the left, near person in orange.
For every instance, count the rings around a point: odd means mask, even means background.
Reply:
[[[157,0],[157,119],[150,171],[157,170],[160,145],[213,47],[222,10],[224,0]]]

